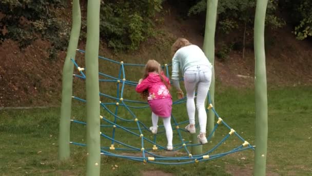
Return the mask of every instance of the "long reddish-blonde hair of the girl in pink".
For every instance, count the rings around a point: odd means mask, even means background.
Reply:
[[[160,66],[160,64],[151,59],[151,60],[148,60],[146,65],[145,65],[145,69],[144,69],[144,74],[143,74],[143,79],[146,79],[148,77],[148,74],[149,73],[157,73],[160,77],[160,79],[162,80],[162,82],[166,85],[167,89],[169,90],[170,89],[170,85],[167,83],[167,81],[165,80],[165,78],[162,76],[162,68]],[[141,93],[141,97],[143,99],[147,99],[148,97],[148,90],[145,90]]]

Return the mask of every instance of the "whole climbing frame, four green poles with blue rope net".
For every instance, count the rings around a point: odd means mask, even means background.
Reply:
[[[205,49],[207,46],[214,46],[214,30],[216,26],[216,13],[217,13],[217,4],[218,1],[211,0],[207,3],[207,25],[211,24],[211,28],[208,28],[206,30],[205,34],[205,44],[204,44],[204,50],[207,52],[211,52],[211,57],[213,58],[213,47],[209,47],[209,49]],[[255,152],[255,175],[265,175],[265,162],[266,162],[266,140],[267,140],[267,97],[266,97],[266,75],[265,75],[265,52],[264,52],[264,20],[265,20],[265,11],[267,6],[267,0],[259,1],[257,0],[257,8],[256,8],[256,17],[255,17],[255,56],[256,56],[256,152]],[[213,10],[212,10],[213,9]],[[216,114],[217,116],[217,124],[214,126],[213,129],[216,129],[219,124],[223,124],[227,128],[230,129],[230,132],[228,135],[225,136],[225,139],[227,139],[230,135],[235,134],[238,136],[241,140],[243,140],[243,144],[240,146],[224,153],[219,153],[215,155],[208,155],[208,153],[212,152],[214,148],[211,150],[198,154],[198,155],[191,155],[191,153],[188,152],[187,147],[188,146],[197,146],[198,144],[188,144],[184,140],[180,144],[176,144],[175,148],[180,149],[184,148],[186,152],[188,153],[188,156],[181,156],[177,157],[175,159],[172,159],[171,157],[165,157],[160,156],[151,153],[150,151],[153,150],[153,148],[160,148],[163,149],[164,147],[157,145],[157,143],[149,140],[144,136],[142,133],[143,130],[148,131],[146,127],[143,129],[140,126],[140,120],[138,118],[131,119],[133,122],[135,122],[138,125],[138,129],[140,134],[132,133],[133,135],[139,135],[141,137],[141,143],[142,148],[132,148],[132,146],[126,146],[128,148],[131,148],[135,151],[141,151],[141,156],[125,156],[125,155],[119,155],[117,153],[112,153],[109,150],[116,150],[115,146],[110,147],[104,147],[101,150],[100,146],[100,135],[104,136],[111,140],[112,143],[118,143],[117,140],[114,140],[113,137],[110,137],[108,135],[105,135],[104,133],[100,134],[100,117],[106,121],[109,126],[108,128],[120,128],[124,131],[127,131],[131,133],[131,130],[124,128],[122,126],[119,126],[115,122],[111,120],[107,120],[104,116],[100,116],[100,105],[102,107],[106,107],[105,103],[100,102],[99,98],[99,72],[98,72],[98,48],[99,48],[99,14],[100,14],[100,1],[88,1],[88,12],[87,12],[87,46],[86,46],[86,75],[84,75],[83,71],[84,68],[81,68],[76,65],[76,68],[79,69],[79,72],[81,75],[78,75],[77,77],[86,79],[86,90],[87,90],[87,175],[100,175],[100,154],[105,154],[109,156],[119,156],[124,157],[127,159],[135,160],[135,161],[143,161],[143,162],[149,162],[149,163],[164,163],[164,162],[158,162],[158,161],[172,161],[172,160],[180,160],[180,162],[174,163],[174,164],[180,164],[180,163],[193,163],[193,162],[200,162],[200,161],[206,161],[211,160],[217,157],[224,156],[226,154],[237,152],[245,149],[253,149],[253,146],[251,146],[248,142],[245,142],[245,140],[238,135],[235,130],[231,129],[221,118],[219,118],[219,115],[216,113],[212,105],[209,105],[209,111],[213,114]],[[73,74],[73,63],[75,58],[75,48],[77,46],[77,42],[79,39],[79,32],[80,32],[80,23],[81,23],[81,15],[80,15],[80,8],[79,8],[79,0],[73,0],[73,24],[72,24],[72,31],[71,31],[71,37],[69,42],[69,48],[67,52],[67,57],[64,63],[64,69],[63,69],[63,91],[62,91],[62,108],[61,108],[61,123],[60,123],[60,149],[59,149],[59,157],[61,160],[68,159],[69,157],[69,127],[70,127],[70,120],[71,117],[71,98],[72,98],[72,74]],[[210,21],[211,20],[211,21]],[[208,34],[207,34],[208,33]],[[212,39],[210,39],[212,38]],[[207,39],[207,40],[206,40]],[[208,40],[209,39],[209,40]],[[208,43],[207,42],[213,42]],[[209,56],[208,54],[208,56]],[[73,61],[73,62],[71,62]],[[213,60],[212,60],[213,61]],[[119,62],[118,62],[119,63]],[[213,62],[212,62],[213,63]],[[119,63],[121,64],[121,72],[124,71],[125,63]],[[168,65],[165,65],[167,67]],[[167,69],[167,68],[166,68]],[[168,74],[168,69],[167,69]],[[125,79],[125,75],[123,75],[123,79],[121,78],[110,78],[111,80],[114,80],[120,84],[122,84],[122,91],[124,85],[127,83],[129,85],[135,85],[134,81],[127,81]],[[213,95],[212,95],[213,96]],[[77,99],[77,97],[73,97]],[[119,102],[114,102],[116,106],[123,105],[124,107],[127,107],[126,101],[123,99],[122,94],[121,97],[111,97],[111,98],[119,98]],[[82,99],[80,99],[82,100]],[[182,102],[183,100],[181,100]],[[100,103],[99,103],[100,102]],[[180,103],[180,101],[175,102]],[[211,103],[213,104],[213,103]],[[108,111],[108,109],[106,109]],[[128,107],[128,110],[129,107]],[[173,109],[174,111],[174,109]],[[134,114],[133,114],[134,115]],[[135,116],[135,115],[134,115]],[[115,118],[119,118],[119,116],[115,116]],[[174,119],[174,118],[172,118]],[[208,139],[210,139],[213,135],[214,130],[211,129],[211,116],[210,120],[210,126],[208,127],[208,131],[210,132],[210,135],[208,136]],[[78,122],[78,121],[74,121]],[[179,133],[181,128],[179,128],[180,123],[177,121],[175,122],[175,129]],[[80,122],[84,124],[84,122]],[[183,130],[182,130],[183,131]],[[180,135],[180,133],[179,133]],[[224,139],[224,140],[225,140]],[[220,145],[224,140],[221,140]],[[152,148],[144,148],[144,141],[147,141],[150,144],[153,144]],[[74,144],[72,142],[72,144]],[[76,143],[75,143],[76,144]],[[154,146],[155,145],[155,146]],[[187,146],[188,145],[188,146]],[[219,147],[220,145],[217,145]],[[107,149],[107,150],[103,150]],[[152,155],[151,157],[145,156],[145,154]],[[182,162],[181,162],[182,161]]]

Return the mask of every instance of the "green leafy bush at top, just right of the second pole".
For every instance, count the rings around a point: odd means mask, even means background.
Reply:
[[[163,0],[102,1],[101,38],[116,50],[137,49],[153,34],[155,12],[162,9]]]

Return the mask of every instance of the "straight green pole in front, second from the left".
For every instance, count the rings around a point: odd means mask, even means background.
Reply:
[[[100,175],[99,39],[100,0],[88,1],[86,44],[87,175]]]

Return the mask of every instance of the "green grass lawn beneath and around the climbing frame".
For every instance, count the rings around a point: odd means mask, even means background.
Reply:
[[[132,99],[135,95],[127,96]],[[255,141],[254,97],[252,90],[231,88],[217,91],[216,94],[218,114],[252,145]],[[268,90],[268,175],[311,175],[311,99],[312,87],[279,87]],[[105,102],[104,99],[101,100]],[[185,104],[181,104],[173,109],[173,115],[178,121],[187,120],[184,106]],[[111,110],[114,111],[114,107]],[[150,126],[148,110],[133,112],[139,120]],[[71,145],[71,159],[66,162],[57,160],[59,114],[59,108],[0,111],[0,175],[85,175],[85,147]],[[76,104],[72,114],[75,119],[85,121],[83,105]],[[112,118],[106,111],[102,111],[101,115]],[[131,117],[122,107],[119,115]],[[121,125],[127,126],[123,123]],[[83,125],[72,124],[71,140],[85,143],[85,129]],[[102,128],[101,131],[111,134],[110,129]],[[177,132],[173,133],[174,143],[177,143]],[[228,129],[218,127],[211,143],[205,145],[203,150],[207,151],[212,144],[220,142],[227,133]],[[147,131],[144,134],[145,137],[153,137]],[[182,135],[186,140],[189,139],[187,133]],[[136,147],[141,145],[139,137],[128,135],[120,129],[116,130],[116,139]],[[165,134],[159,135],[158,143],[166,145]],[[101,144],[109,146],[110,142],[102,139]],[[216,152],[233,149],[238,144],[241,144],[238,138],[231,136]],[[102,156],[101,159],[102,175],[251,175],[254,157],[251,150],[246,150],[208,162],[177,166],[144,164],[108,156]]]

